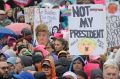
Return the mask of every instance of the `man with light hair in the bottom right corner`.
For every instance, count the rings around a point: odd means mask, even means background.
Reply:
[[[108,59],[103,65],[103,78],[104,79],[118,79],[119,68],[113,59]]]

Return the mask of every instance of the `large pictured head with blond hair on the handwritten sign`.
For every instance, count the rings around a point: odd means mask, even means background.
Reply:
[[[38,45],[46,45],[49,41],[49,31],[47,25],[40,24],[37,26],[35,31],[37,37],[35,44],[38,42]]]

